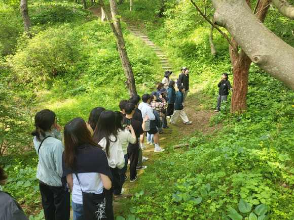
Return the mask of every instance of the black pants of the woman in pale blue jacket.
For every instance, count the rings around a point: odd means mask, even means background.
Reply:
[[[62,187],[39,183],[46,220],[69,220],[70,194]]]

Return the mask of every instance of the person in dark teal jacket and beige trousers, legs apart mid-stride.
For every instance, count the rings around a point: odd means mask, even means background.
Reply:
[[[186,125],[192,124],[192,121],[189,121],[186,113],[183,111],[184,106],[182,105],[182,100],[183,100],[183,93],[184,92],[185,92],[185,86],[183,86],[183,85],[179,86],[179,89],[176,92],[176,98],[175,98],[175,103],[174,103],[174,113],[168,122],[170,124],[174,125],[178,116],[181,117],[182,121]]]

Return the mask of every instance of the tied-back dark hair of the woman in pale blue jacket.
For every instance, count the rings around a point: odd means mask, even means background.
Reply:
[[[31,135],[35,136],[38,141],[41,141],[40,135],[45,137],[45,131],[50,129],[56,119],[56,115],[49,109],[44,109],[34,116],[35,130],[32,131]]]

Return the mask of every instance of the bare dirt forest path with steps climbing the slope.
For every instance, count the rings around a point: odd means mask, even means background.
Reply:
[[[101,18],[101,8],[93,8],[91,9],[91,12],[94,15]],[[156,47],[153,41],[150,40],[147,35],[145,35],[141,30],[137,28],[138,25],[135,22],[127,21],[127,20],[124,20],[124,22],[127,24],[127,29],[131,33],[140,37],[147,45],[149,45],[153,49],[153,51],[156,53],[156,55],[160,59],[163,71],[166,71],[166,70],[172,71],[173,74],[171,75],[171,78],[172,80],[176,79],[178,73],[174,74],[172,65],[169,63],[166,55],[162,53],[162,50],[160,49],[160,47]],[[221,124],[217,126],[213,126],[213,127],[209,126],[210,118],[215,113],[211,112],[211,109],[205,109],[203,107],[202,103],[204,103],[207,100],[207,98],[203,94],[201,94],[200,91],[198,91],[197,89],[194,89],[192,86],[190,90],[191,92],[189,93],[185,101],[185,112],[188,115],[189,120],[193,121],[193,123],[190,125],[185,125],[181,121],[180,117],[177,119],[177,122],[175,125],[171,125],[168,123],[169,128],[163,129],[163,134],[159,136],[160,147],[167,148],[170,146],[178,145],[180,144],[179,141],[183,137],[191,137],[190,134],[195,133],[195,131],[198,131],[201,134],[212,134],[222,128]],[[216,103],[216,100],[215,100],[215,103]],[[169,121],[169,119],[167,119],[167,121]],[[195,134],[193,136],[197,136],[197,135]],[[144,140],[144,145],[148,147],[148,149],[143,151],[143,156],[149,157],[149,160],[143,162],[143,165],[148,166],[149,164],[153,164],[156,160],[160,159],[162,154],[168,154],[168,150],[166,150],[163,153],[155,153],[154,145],[148,145],[146,143],[146,138]],[[179,150],[182,150],[182,149],[179,149]],[[133,188],[134,186],[139,186],[142,184],[140,182],[140,175],[144,173],[145,171],[147,172],[146,174],[148,174],[148,168],[146,168],[145,170],[137,170],[138,180],[136,182],[130,183],[128,179],[124,183],[123,188],[125,189],[126,193],[118,196],[117,198],[114,198],[113,206],[114,206],[115,214],[120,213],[120,210],[122,210],[123,207],[125,206],[125,203],[117,202],[117,201],[132,197],[132,194],[128,194],[128,193],[130,192],[131,188]],[[128,175],[129,177],[129,168],[127,169],[126,175]]]

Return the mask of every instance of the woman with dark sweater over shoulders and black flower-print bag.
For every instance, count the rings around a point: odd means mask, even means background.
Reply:
[[[108,191],[112,187],[111,172],[106,155],[91,138],[92,134],[91,126],[83,118],[72,119],[64,127],[62,176],[63,185],[67,183],[72,192],[73,220],[97,219],[96,214],[114,218],[112,196]],[[84,204],[84,193],[98,195],[102,201],[105,198],[105,204],[102,202],[104,210],[99,213],[88,210],[89,206]]]

